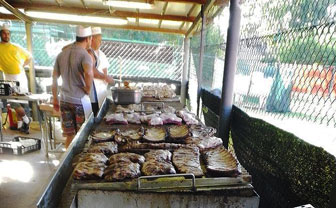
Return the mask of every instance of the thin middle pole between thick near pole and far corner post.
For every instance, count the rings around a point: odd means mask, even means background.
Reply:
[[[204,42],[205,42],[204,27],[206,24],[206,17],[204,15],[204,6],[202,6],[201,9],[201,17],[202,17],[201,45],[200,45],[200,58],[199,58],[199,72],[197,73],[197,116],[200,115],[199,111],[200,111],[201,87],[203,77],[203,56],[204,56]]]

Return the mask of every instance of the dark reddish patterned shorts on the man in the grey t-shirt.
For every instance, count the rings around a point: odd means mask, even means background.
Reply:
[[[85,121],[81,104],[60,102],[63,136],[74,136]]]

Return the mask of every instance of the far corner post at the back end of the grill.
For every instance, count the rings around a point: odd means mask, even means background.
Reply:
[[[186,104],[187,84],[188,84],[188,69],[189,69],[189,53],[190,53],[190,38],[184,38],[184,55],[183,55],[183,72],[181,83],[181,98],[180,102],[183,106]]]

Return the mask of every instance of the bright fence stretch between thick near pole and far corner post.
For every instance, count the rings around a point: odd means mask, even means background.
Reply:
[[[229,7],[219,5],[214,8],[216,12],[207,14],[206,26],[204,27],[204,54],[201,76],[201,87],[221,96],[224,73],[224,57],[226,49],[226,36],[229,24]],[[200,47],[201,34],[195,33],[190,41],[189,62],[189,100],[190,108],[196,113],[197,109],[197,75],[200,70]],[[202,102],[201,99],[201,106]]]

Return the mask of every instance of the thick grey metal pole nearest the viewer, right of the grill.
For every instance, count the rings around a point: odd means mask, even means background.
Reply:
[[[239,46],[240,17],[241,9],[239,6],[239,0],[230,0],[230,21],[225,51],[222,98],[220,103],[218,125],[218,135],[223,139],[225,147],[228,147],[230,136],[233,84],[237,67],[237,53]]]

